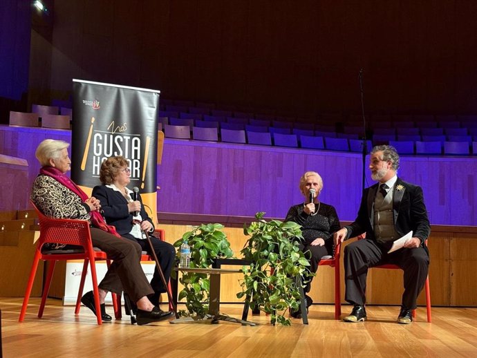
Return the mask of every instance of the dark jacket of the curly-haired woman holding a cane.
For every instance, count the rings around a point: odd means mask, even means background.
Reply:
[[[119,191],[106,187],[106,185],[98,185],[93,188],[92,196],[97,198],[97,200],[100,200],[101,209],[104,211],[103,215],[106,219],[106,223],[113,225],[120,235],[131,232],[133,227],[133,214],[129,213],[127,207],[128,202]],[[154,227],[151,218],[149,218],[149,215],[147,215],[147,212],[144,210],[144,205],[142,205],[140,195],[139,201],[141,202],[140,214],[142,220],[148,220]]]

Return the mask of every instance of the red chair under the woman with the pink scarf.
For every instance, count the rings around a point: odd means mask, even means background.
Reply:
[[[35,205],[33,205],[35,207]],[[50,290],[50,283],[55,270],[55,264],[59,260],[84,260],[82,279],[79,285],[78,296],[75,306],[75,314],[79,313],[81,305],[81,297],[83,293],[84,280],[88,271],[88,264],[91,267],[91,279],[93,281],[93,293],[95,296],[95,308],[96,312],[100,310],[100,299],[97,290],[97,278],[96,278],[96,260],[106,260],[109,266],[109,260],[106,258],[106,252],[95,251],[91,243],[91,232],[89,230],[89,223],[86,220],[71,220],[71,219],[56,219],[48,218],[35,207],[39,218],[40,236],[37,243],[37,249],[35,250],[35,256],[33,258],[32,269],[28,283],[26,285],[24,303],[21,306],[21,312],[19,322],[24,321],[26,309],[28,307],[28,300],[32,291],[33,281],[35,281],[35,274],[37,272],[38,263],[40,260],[49,261],[48,273],[46,275],[46,281],[43,286],[43,296],[41,297],[41,303],[38,310],[38,318],[43,316],[45,308],[46,297]],[[68,245],[76,245],[82,248],[70,249],[70,250],[48,250],[41,252],[41,247],[46,243],[60,243]],[[117,307],[115,305],[115,297],[113,296],[113,305],[115,312]],[[97,324],[102,324],[101,315],[97,315]]]

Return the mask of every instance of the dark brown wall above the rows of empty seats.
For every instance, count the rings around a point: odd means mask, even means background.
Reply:
[[[292,113],[477,113],[477,1],[55,1],[52,95],[73,77]],[[44,48],[48,50],[48,48]],[[36,74],[35,74],[36,73]],[[35,94],[32,95],[32,101]]]

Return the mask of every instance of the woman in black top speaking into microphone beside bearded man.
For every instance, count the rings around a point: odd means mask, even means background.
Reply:
[[[290,207],[285,220],[301,225],[304,241],[299,243],[299,247],[310,261],[310,272],[315,273],[322,257],[333,256],[333,234],[341,225],[335,208],[319,200],[323,180],[317,172],[304,173],[300,178],[299,189],[304,200]],[[305,292],[310,292],[310,282],[306,284]],[[312,302],[306,294],[307,310]],[[301,312],[291,312],[291,315],[300,318]]]

